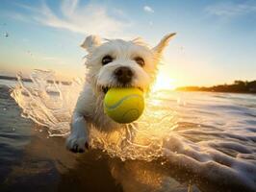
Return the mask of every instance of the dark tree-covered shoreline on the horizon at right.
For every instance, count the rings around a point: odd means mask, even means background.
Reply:
[[[256,81],[235,81],[234,84],[218,84],[214,86],[181,86],[178,91],[205,91],[224,93],[256,93]]]

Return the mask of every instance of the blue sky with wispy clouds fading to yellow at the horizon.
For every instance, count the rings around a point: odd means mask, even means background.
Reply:
[[[168,33],[157,84],[231,84],[256,79],[256,1],[0,0],[0,74],[54,70],[85,75],[90,35],[152,47]]]

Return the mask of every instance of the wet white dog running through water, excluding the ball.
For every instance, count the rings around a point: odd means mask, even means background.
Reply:
[[[120,129],[103,111],[103,99],[110,87],[133,86],[147,92],[154,82],[157,66],[169,39],[165,36],[150,49],[140,38],[131,41],[121,39],[102,43],[98,36],[88,36],[81,45],[87,56],[86,84],[74,109],[71,133],[66,147],[72,152],[84,152],[89,147],[90,126],[103,132]]]

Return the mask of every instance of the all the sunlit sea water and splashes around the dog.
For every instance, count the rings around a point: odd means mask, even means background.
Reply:
[[[136,125],[72,154],[82,82],[32,78],[0,82],[0,191],[256,191],[256,95],[159,90]]]

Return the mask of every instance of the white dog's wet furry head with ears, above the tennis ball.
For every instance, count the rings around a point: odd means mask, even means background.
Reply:
[[[87,37],[82,44],[89,52],[87,81],[102,93],[106,93],[110,87],[130,86],[147,91],[154,81],[162,51],[174,35],[165,36],[153,49],[139,38],[101,43],[98,36]]]

